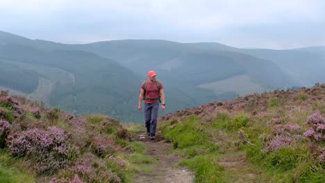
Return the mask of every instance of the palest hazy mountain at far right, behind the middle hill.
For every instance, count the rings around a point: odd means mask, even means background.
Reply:
[[[237,49],[217,43],[196,43],[199,48],[212,51],[235,51],[271,60],[294,79],[296,85],[310,87],[316,82],[325,82],[325,46],[301,49]],[[274,75],[273,75],[274,76]]]

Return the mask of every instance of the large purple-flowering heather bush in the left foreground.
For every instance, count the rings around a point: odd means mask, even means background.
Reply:
[[[9,135],[7,143],[12,155],[30,157],[38,173],[53,174],[72,159],[72,150],[65,144],[66,140],[63,129],[49,127],[46,131],[31,129]]]

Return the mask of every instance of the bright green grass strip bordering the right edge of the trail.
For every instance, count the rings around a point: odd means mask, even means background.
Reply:
[[[228,119],[223,114],[219,117],[219,121]],[[174,128],[169,129],[170,125]],[[194,171],[195,182],[225,182],[225,176],[222,176],[224,168],[217,164],[219,146],[210,140],[210,134],[206,132],[212,126],[203,126],[199,117],[190,116],[183,121],[165,123],[161,128],[166,141],[173,142],[174,153],[186,157],[179,165]]]

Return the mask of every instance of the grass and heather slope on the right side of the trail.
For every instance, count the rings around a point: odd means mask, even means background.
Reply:
[[[251,94],[160,117],[194,182],[325,182],[325,85]]]

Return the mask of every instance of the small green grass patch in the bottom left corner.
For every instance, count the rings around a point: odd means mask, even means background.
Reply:
[[[12,158],[5,150],[0,150],[0,182],[35,182],[33,173],[22,168],[22,161]]]

